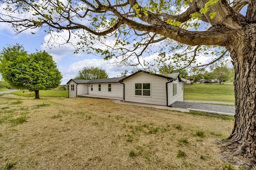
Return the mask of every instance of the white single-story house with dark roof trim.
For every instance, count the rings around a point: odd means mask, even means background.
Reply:
[[[120,99],[127,102],[170,106],[184,102],[184,81],[179,73],[152,74],[139,70],[127,77],[98,80],[70,79],[68,96]]]

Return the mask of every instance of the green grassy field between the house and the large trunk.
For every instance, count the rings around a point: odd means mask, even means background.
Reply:
[[[184,86],[185,100],[235,102],[233,84],[192,84]]]

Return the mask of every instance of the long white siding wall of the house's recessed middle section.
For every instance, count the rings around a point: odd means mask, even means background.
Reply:
[[[108,84],[111,84],[111,92],[108,91]],[[89,87],[89,94],[97,96],[111,96],[111,97],[123,97],[124,85],[120,83],[100,83],[101,91],[98,90],[99,84],[93,85],[93,91],[91,86]]]

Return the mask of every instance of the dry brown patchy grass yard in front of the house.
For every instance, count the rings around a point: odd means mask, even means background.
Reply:
[[[20,116],[27,121],[18,125],[9,121]],[[0,96],[0,120],[0,168],[13,158],[18,161],[13,169],[18,170],[222,170],[230,166],[218,159],[220,149],[214,141],[231,133],[233,120],[103,99],[33,100],[10,95]],[[182,130],[176,125],[182,125]],[[196,136],[196,131],[204,131],[205,137]],[[188,143],[178,144],[182,138]],[[186,156],[177,158],[179,150]]]

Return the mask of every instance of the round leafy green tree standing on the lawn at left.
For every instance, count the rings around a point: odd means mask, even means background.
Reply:
[[[0,53],[0,73],[8,84],[17,89],[35,92],[58,87],[62,75],[52,56],[45,51],[28,54],[22,45],[4,48]]]

